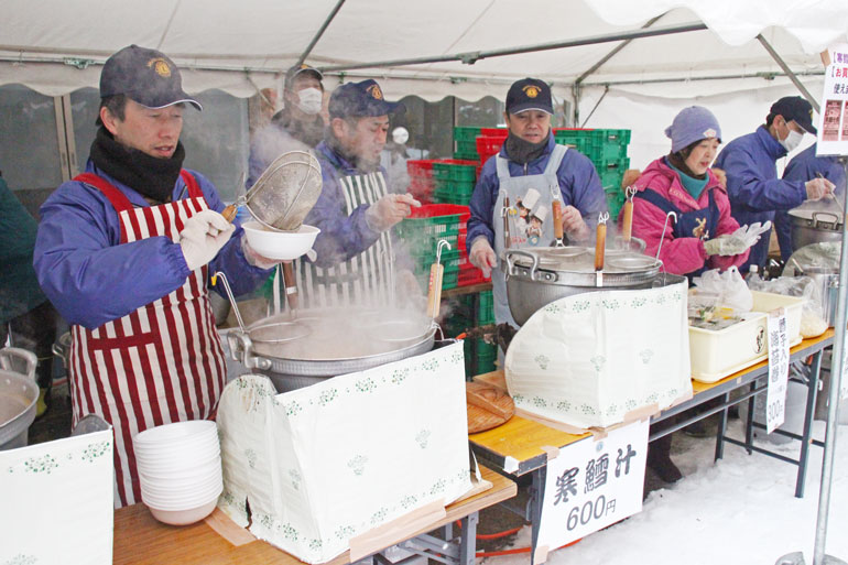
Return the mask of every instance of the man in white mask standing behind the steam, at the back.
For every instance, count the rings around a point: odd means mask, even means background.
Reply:
[[[324,139],[324,75],[301,64],[285,73],[283,109],[250,140],[247,187],[257,182],[271,162],[287,151],[308,151]]]

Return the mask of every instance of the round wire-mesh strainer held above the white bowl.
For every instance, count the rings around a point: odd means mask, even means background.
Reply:
[[[240,198],[257,221],[278,231],[295,231],[318,199],[320,165],[307,151],[276,157]]]

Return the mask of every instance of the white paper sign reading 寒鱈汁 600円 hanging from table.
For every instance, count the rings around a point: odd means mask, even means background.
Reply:
[[[649,422],[587,437],[547,463],[534,563],[547,552],[642,510]]]

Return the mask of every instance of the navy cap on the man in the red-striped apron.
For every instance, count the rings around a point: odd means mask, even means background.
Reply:
[[[164,53],[130,45],[106,59],[100,73],[100,98],[124,95],[148,108],[200,102],[185,94],[180,69]]]

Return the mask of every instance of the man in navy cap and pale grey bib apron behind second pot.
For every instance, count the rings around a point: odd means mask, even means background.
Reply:
[[[518,327],[507,304],[505,275],[500,264],[504,215],[510,225],[509,247],[521,248],[551,245],[555,203],[563,210],[563,230],[572,243],[587,241],[591,236],[590,226],[607,210],[604,188],[591,161],[554,142],[553,113],[551,88],[546,83],[537,78],[513,83],[507,93],[503,113],[509,135],[500,153],[483,164],[471,195],[468,257],[487,275],[492,271],[498,324]],[[524,210],[530,208],[536,219],[545,218],[541,226],[533,226],[532,233],[528,231],[530,224],[522,220]]]

